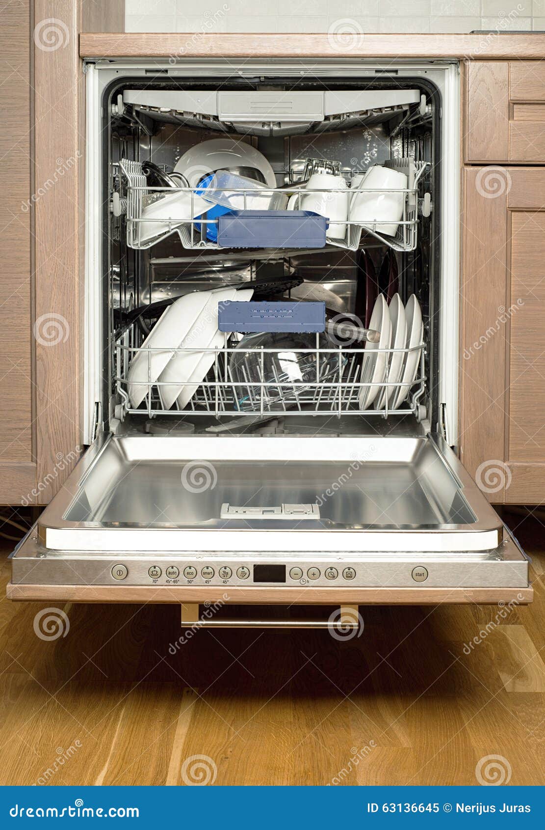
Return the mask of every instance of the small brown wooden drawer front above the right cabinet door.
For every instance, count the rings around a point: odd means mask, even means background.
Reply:
[[[465,162],[545,164],[543,63],[471,61],[465,80]]]

